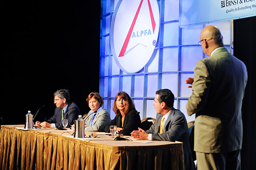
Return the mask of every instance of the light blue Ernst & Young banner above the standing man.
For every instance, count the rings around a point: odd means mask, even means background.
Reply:
[[[180,2],[181,27],[256,15],[255,0],[180,0]]]

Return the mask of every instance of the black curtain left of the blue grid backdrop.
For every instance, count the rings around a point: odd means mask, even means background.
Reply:
[[[24,124],[28,110],[49,119],[53,93],[69,89],[82,114],[99,91],[100,1],[0,0],[1,112]]]

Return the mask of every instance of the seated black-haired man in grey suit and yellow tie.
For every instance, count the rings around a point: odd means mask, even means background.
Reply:
[[[131,135],[135,139],[165,140],[183,142],[185,169],[195,169],[192,158],[187,121],[184,114],[173,107],[174,94],[169,89],[156,91],[154,107],[157,112],[156,121],[147,131],[139,128]]]

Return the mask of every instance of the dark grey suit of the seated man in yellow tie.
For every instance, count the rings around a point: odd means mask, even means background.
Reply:
[[[159,133],[161,119],[162,115],[157,114],[155,123],[146,133],[152,133],[152,140],[183,142],[185,169],[195,169],[195,163],[189,145],[187,121],[184,114],[180,110],[172,108],[162,134]]]

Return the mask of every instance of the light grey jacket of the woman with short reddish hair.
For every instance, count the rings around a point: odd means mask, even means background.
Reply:
[[[104,108],[97,113],[92,125],[89,125],[92,120],[91,113],[88,113],[84,120],[86,120],[87,125],[86,131],[104,131],[105,126],[111,122],[110,114]]]

